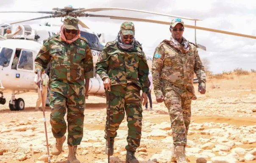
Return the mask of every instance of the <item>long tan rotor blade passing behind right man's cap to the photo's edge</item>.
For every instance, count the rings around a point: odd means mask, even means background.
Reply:
[[[157,24],[170,25],[170,22],[151,20],[151,19],[132,18],[132,17],[116,17],[116,16],[94,15],[94,14],[88,14],[88,17],[106,17],[106,18],[110,18],[110,19],[129,20],[129,21],[138,21],[138,22],[151,22],[151,23],[157,23]],[[250,35],[245,35],[245,34],[241,34],[241,33],[227,32],[227,31],[216,30],[216,29],[211,29],[211,28],[198,27],[198,26],[194,26],[194,25],[185,25],[184,24],[184,27],[256,39],[256,36],[250,36]]]

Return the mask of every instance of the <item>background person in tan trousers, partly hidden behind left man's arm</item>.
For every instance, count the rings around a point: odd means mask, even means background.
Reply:
[[[37,85],[37,75],[35,76],[35,80],[34,82],[36,83]],[[39,106],[41,105],[42,103],[42,99],[43,99],[43,102],[44,102],[44,105],[46,103],[46,98],[47,98],[47,85],[48,85],[48,82],[49,82],[49,77],[48,75],[45,73],[45,71],[42,72],[42,79],[43,79],[43,85],[42,85],[42,93],[43,93],[43,97],[41,97],[41,90],[40,88],[38,87],[37,88],[37,92],[38,92],[38,99],[36,100],[36,108],[35,110],[38,111],[39,110]]]

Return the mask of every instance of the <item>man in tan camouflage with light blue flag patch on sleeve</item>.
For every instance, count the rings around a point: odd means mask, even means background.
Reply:
[[[170,40],[162,41],[154,52],[152,63],[156,101],[163,102],[170,113],[173,130],[172,161],[186,163],[186,135],[191,119],[191,101],[195,96],[193,77],[198,77],[198,91],[206,92],[206,73],[195,44],[183,36],[184,22],[173,19]]]

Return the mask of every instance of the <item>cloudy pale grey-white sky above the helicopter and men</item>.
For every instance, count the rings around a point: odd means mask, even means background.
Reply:
[[[197,26],[256,36],[256,3],[253,0],[0,0],[0,3],[0,11],[52,11],[52,8],[64,8],[67,5],[72,5],[74,8],[132,8],[201,19],[201,21],[197,21]],[[135,11],[115,10],[88,13],[166,22],[171,22],[174,19],[174,17]],[[0,13],[0,23],[11,23],[47,15]],[[95,17],[79,19],[95,33],[104,33],[106,41],[116,38],[120,25],[125,21]],[[186,25],[195,25],[192,20],[183,20]],[[61,24],[61,18],[34,20],[21,24],[43,24],[45,22]],[[143,51],[147,55],[153,55],[161,41],[170,39],[169,25],[135,21],[134,25],[135,38],[142,44]],[[194,29],[185,28],[183,36],[187,40],[195,42]],[[232,71],[236,68],[248,71],[256,69],[255,39],[196,30],[196,40],[198,44],[206,47],[206,51],[198,50],[199,55],[200,58],[209,61],[209,70],[214,74]]]

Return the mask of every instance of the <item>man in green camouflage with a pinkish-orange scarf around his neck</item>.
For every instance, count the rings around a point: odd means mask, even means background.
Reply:
[[[78,19],[65,17],[58,34],[48,38],[43,44],[35,59],[38,85],[42,82],[42,71],[49,62],[50,124],[56,138],[52,154],[61,153],[68,130],[68,162],[80,163],[75,154],[83,138],[85,96],[89,79],[93,77],[93,61],[88,42],[80,36]],[[66,107],[68,124],[64,120]]]

